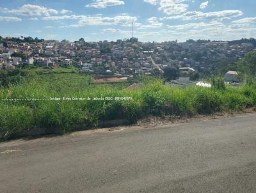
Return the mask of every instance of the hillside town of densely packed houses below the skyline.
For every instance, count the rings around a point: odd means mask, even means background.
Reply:
[[[253,40],[251,38],[250,40]],[[76,66],[82,73],[102,75],[152,75],[174,66],[180,72],[216,73],[221,61],[235,63],[246,52],[255,51],[250,42],[211,42],[188,40],[139,42],[138,38],[116,42],[76,42],[38,38],[1,38],[0,70],[20,66],[44,68]],[[154,70],[156,69],[156,70]]]

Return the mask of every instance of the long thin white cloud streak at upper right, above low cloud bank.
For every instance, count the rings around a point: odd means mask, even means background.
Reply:
[[[243,15],[243,12],[240,10],[224,10],[220,12],[186,12],[182,15],[176,15],[172,17],[164,17],[163,19],[182,19],[182,20],[200,20],[200,19],[223,19],[223,18],[231,18],[231,17],[238,17]]]

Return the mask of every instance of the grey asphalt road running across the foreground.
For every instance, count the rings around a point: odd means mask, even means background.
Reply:
[[[0,143],[0,192],[256,192],[256,114]]]

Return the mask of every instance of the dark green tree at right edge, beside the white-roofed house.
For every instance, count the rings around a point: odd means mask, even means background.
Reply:
[[[244,58],[237,62],[237,70],[241,72],[243,78],[256,77],[256,52],[248,52]]]

